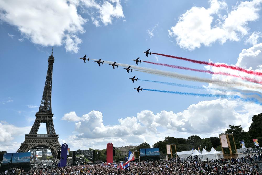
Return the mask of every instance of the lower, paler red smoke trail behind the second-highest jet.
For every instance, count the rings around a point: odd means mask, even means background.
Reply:
[[[164,64],[164,63],[155,63],[155,62],[150,62],[150,61],[142,61],[142,62],[150,63],[150,64],[156,64],[156,65],[160,65],[160,66],[172,67],[172,68],[176,68],[176,69],[184,69],[184,70],[190,70],[190,71],[196,71],[196,72],[203,72],[203,73],[214,74],[214,75],[219,74],[219,75],[232,76],[232,77],[241,78],[242,80],[248,80],[248,81],[253,82],[253,83],[262,84],[261,81],[257,81],[253,78],[242,77],[242,76],[238,76],[238,75],[228,74],[228,73],[225,73],[225,72],[212,72],[210,70],[193,69],[193,68],[189,68],[189,67],[176,66],[176,65]]]

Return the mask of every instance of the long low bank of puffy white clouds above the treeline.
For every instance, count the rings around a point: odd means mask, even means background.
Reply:
[[[75,148],[104,148],[108,142],[123,146],[142,142],[152,145],[165,136],[188,137],[198,134],[211,137],[224,132],[228,124],[241,125],[248,130],[252,116],[261,110],[260,105],[253,103],[217,99],[192,104],[178,113],[161,111],[154,114],[143,110],[136,116],[119,119],[114,125],[104,125],[102,113],[91,111],[75,123],[78,134],[69,136],[65,141]]]

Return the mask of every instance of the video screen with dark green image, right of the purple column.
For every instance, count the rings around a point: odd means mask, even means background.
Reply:
[[[73,151],[73,165],[83,165],[93,163],[93,150],[77,150]]]

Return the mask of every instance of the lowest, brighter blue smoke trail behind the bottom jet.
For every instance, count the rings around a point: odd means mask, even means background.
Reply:
[[[197,96],[197,97],[217,97],[217,98],[240,99],[245,102],[254,102],[256,104],[262,105],[262,103],[260,103],[256,98],[242,98],[242,97],[239,97],[238,95],[199,94],[199,93],[193,93],[193,92],[164,91],[164,90],[156,90],[156,89],[143,89],[143,90],[179,94],[179,95],[191,95],[191,96]]]

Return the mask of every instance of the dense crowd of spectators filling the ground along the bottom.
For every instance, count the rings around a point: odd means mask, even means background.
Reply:
[[[66,166],[54,169],[15,170],[17,175],[262,175],[252,155],[242,158],[199,161],[173,158],[161,161],[135,161],[121,169],[114,164]],[[248,160],[248,161],[247,161]]]

